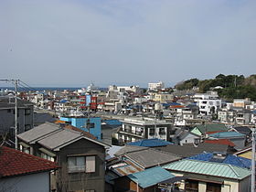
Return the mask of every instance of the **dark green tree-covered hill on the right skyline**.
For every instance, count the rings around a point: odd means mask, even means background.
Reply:
[[[256,75],[245,78],[243,75],[219,74],[215,79],[190,79],[176,84],[176,90],[179,91],[192,90],[195,87],[199,92],[218,91],[219,96],[227,101],[242,98],[251,98],[252,101],[256,101]]]

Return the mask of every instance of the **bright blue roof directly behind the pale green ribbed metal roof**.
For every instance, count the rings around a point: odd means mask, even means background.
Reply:
[[[188,159],[194,159],[199,161],[218,162],[222,164],[237,165],[243,168],[251,167],[251,159],[247,159],[241,156],[227,155],[224,159],[213,158],[212,153],[203,153],[195,156],[188,157]]]

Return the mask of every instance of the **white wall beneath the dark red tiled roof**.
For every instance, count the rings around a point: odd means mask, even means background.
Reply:
[[[48,192],[49,172],[1,179],[0,191]]]

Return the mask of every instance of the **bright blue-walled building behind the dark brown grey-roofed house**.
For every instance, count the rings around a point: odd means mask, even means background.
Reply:
[[[59,120],[69,123],[82,131],[91,133],[101,140],[101,117],[62,116]]]

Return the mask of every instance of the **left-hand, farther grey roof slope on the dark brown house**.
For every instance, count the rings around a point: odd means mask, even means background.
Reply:
[[[61,128],[55,123],[43,123],[25,133],[20,133],[17,137],[27,143],[37,142],[39,139],[42,139],[44,136],[47,136],[50,133],[59,132]]]

